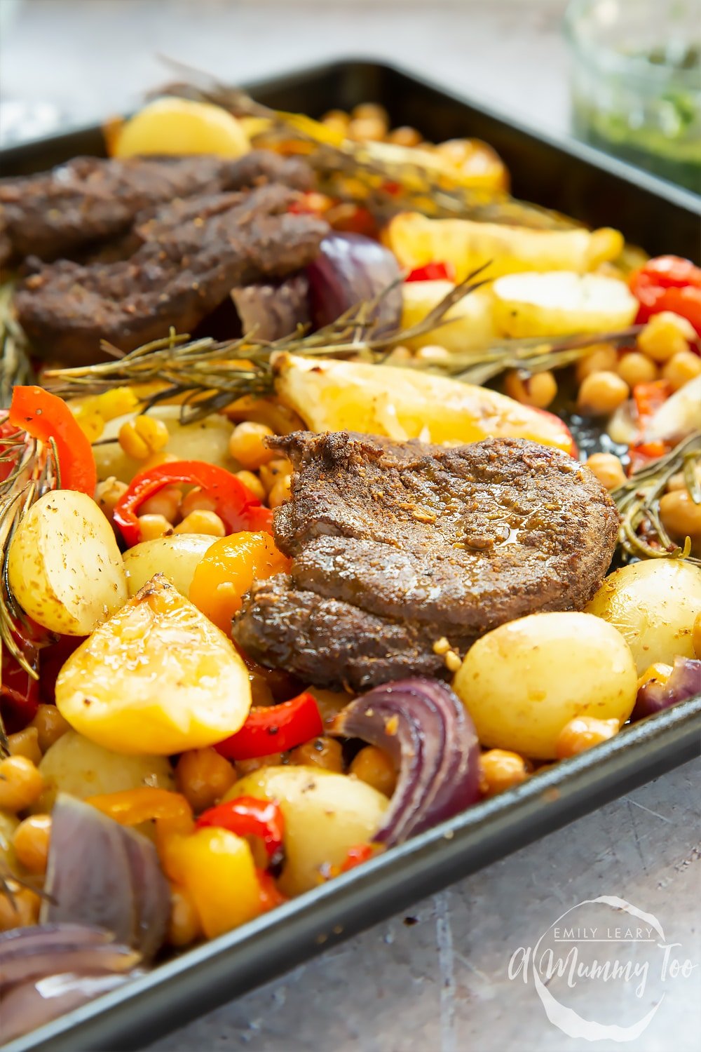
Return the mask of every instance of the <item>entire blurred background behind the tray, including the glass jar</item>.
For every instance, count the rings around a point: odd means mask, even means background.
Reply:
[[[166,81],[391,60],[701,193],[701,0],[0,0],[0,144]]]

